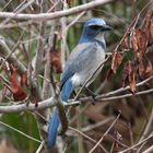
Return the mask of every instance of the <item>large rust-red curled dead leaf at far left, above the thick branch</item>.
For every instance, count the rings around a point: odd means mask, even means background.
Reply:
[[[13,91],[14,101],[23,101],[27,94],[24,92],[20,82],[17,81],[17,69],[12,66],[11,68],[11,86]]]

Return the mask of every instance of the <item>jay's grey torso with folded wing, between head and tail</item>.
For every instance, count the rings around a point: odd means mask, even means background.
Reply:
[[[96,42],[79,44],[66,62],[61,82],[64,83],[74,74],[79,74],[82,78],[81,82],[84,82],[86,75],[93,73],[98,63],[101,63],[104,59],[104,48]]]

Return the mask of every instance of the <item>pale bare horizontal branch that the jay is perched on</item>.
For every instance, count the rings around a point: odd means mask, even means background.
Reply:
[[[152,92],[153,92],[153,89],[142,91],[142,92],[138,92],[138,93],[136,93],[136,95],[143,95],[143,94],[149,94],[149,93],[152,93]],[[98,101],[96,101],[96,102],[99,103],[99,102],[114,101],[114,99],[131,97],[131,96],[133,96],[133,95],[132,94],[125,94],[125,95],[120,95],[120,96],[104,97],[103,98],[103,95],[98,95],[95,98],[97,98]],[[70,103],[68,103],[66,106],[68,107],[68,106],[72,106],[72,105],[79,105],[83,102],[91,103],[90,101],[93,101],[93,98],[91,96],[80,98],[79,101],[75,101],[75,102],[73,102],[73,99],[71,99]],[[11,105],[11,106],[0,106],[0,113],[1,114],[10,114],[10,113],[26,111],[26,110],[38,110],[38,109],[45,109],[45,108],[48,108],[48,107],[52,107],[55,105],[56,105],[55,98],[50,97],[50,98],[47,98],[45,101],[38,102],[37,107],[35,107],[35,104],[30,104],[28,106],[26,104]]]

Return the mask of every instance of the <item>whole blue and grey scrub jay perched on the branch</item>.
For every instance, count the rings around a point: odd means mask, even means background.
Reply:
[[[79,44],[69,56],[61,76],[62,85],[60,97],[62,102],[68,102],[74,89],[83,85],[105,60],[106,44],[104,34],[109,30],[111,30],[111,27],[106,25],[102,19],[91,19],[84,24]],[[92,81],[94,81],[94,79],[90,80],[86,86],[92,83]],[[50,149],[56,144],[59,127],[60,118],[58,109],[54,108],[48,128],[48,148]]]

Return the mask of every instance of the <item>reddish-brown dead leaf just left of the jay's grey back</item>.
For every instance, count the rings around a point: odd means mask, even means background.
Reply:
[[[61,73],[62,67],[61,67],[60,52],[59,51],[51,51],[50,56],[51,56],[51,64],[54,66],[56,72]]]

